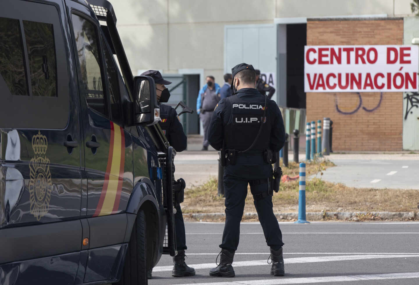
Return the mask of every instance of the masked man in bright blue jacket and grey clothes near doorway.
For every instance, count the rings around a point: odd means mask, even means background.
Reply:
[[[207,130],[215,105],[220,101],[220,85],[215,83],[214,76],[208,75],[206,80],[207,84],[199,91],[197,98],[197,113],[204,126],[204,140],[201,150],[208,150]]]

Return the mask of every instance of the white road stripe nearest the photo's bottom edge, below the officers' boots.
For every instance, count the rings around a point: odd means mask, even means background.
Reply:
[[[233,282],[212,282],[212,283],[189,283],[182,285],[275,285],[275,284],[307,284],[319,282],[349,282],[367,280],[391,280],[419,278],[419,272],[385,273],[385,274],[365,274],[365,275],[341,275],[341,276],[319,276],[319,277],[300,277],[300,278],[271,278],[265,280],[243,280]]]

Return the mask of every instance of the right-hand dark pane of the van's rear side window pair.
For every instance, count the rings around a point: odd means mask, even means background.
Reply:
[[[52,24],[23,21],[33,96],[57,96]]]

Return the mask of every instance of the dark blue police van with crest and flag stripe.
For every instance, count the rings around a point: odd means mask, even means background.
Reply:
[[[0,99],[0,284],[147,284],[176,151],[111,4],[2,0]]]

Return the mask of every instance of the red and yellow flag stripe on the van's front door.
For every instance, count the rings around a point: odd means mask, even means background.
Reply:
[[[109,144],[108,165],[101,197],[93,217],[118,211],[124,180],[125,136],[124,129],[111,122],[111,142]]]

